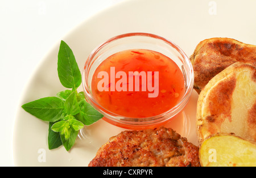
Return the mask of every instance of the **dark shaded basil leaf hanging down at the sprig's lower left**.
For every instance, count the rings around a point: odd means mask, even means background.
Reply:
[[[53,132],[51,127],[55,124],[55,122],[49,122],[49,129],[48,129],[48,148],[49,150],[56,149],[57,147],[62,145],[60,139],[60,133]]]

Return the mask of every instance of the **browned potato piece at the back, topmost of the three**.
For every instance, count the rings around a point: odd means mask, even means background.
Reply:
[[[256,46],[214,37],[201,41],[190,60],[195,74],[194,88],[200,93],[210,79],[235,62],[256,67]]]

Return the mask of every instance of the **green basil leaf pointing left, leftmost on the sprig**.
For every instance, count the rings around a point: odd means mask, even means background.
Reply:
[[[57,97],[46,97],[22,105],[31,115],[43,121],[55,122],[60,120],[64,110],[63,100]]]

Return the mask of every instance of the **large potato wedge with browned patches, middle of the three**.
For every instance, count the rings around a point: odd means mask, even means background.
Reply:
[[[256,142],[256,67],[236,62],[213,77],[197,101],[199,143],[216,133]]]

